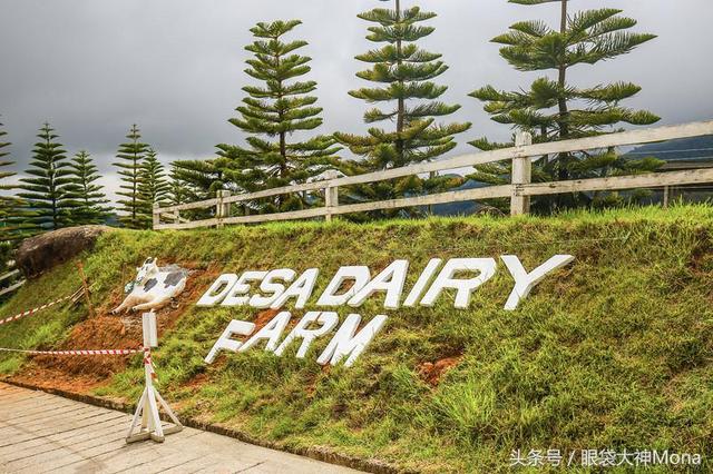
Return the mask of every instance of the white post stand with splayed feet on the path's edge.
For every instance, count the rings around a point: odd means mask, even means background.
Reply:
[[[156,314],[154,312],[144,313],[144,375],[146,377],[146,387],[136,406],[136,413],[134,413],[134,419],[131,426],[126,434],[126,442],[134,443],[137,441],[153,440],[157,443],[163,443],[165,435],[172,433],[178,433],[183,429],[183,425],[170,409],[166,401],[160,396],[158,391],[154,387],[154,366],[152,364],[152,347],[158,346],[158,335],[156,332]],[[164,408],[173,426],[164,427],[158,416],[158,404]],[[138,424],[139,418],[141,421]],[[138,428],[136,433],[134,431]]]

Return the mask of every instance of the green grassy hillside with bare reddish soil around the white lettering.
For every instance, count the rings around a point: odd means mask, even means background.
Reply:
[[[99,316],[89,318],[81,306],[40,313],[2,326],[0,347],[138,343],[140,328],[108,309],[134,267],[155,256],[194,270],[179,307],[159,315],[154,356],[158,386],[184,417],[286,448],[323,446],[432,473],[509,472],[512,450],[671,450],[705,458],[713,454],[712,249],[713,208],[703,206],[121,230],[82,256]],[[231,319],[260,317],[251,308],[194,305],[223,271],[319,267],[319,296],[344,265],[369,265],[373,274],[409,259],[417,270],[408,289],[432,257],[516,254],[529,269],[563,253],[574,255],[574,264],[547,277],[516,312],[502,309],[512,285],[502,264],[468,310],[453,309],[452,297],[432,308],[389,310],[351,368],[315,363],[329,337],[304,359],[292,357],[292,347],[283,357],[250,350],[224,353],[211,366],[202,362]],[[78,283],[71,263],[58,267],[22,288],[0,315],[69,294]],[[315,300],[293,314],[315,309]],[[381,300],[358,313],[383,313]],[[346,313],[340,308],[341,317]],[[143,376],[139,356],[57,362],[0,354],[0,373],[38,383],[52,375],[51,383],[75,381],[80,391],[126,402],[138,398]]]

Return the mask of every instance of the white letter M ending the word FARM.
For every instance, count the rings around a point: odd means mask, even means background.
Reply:
[[[343,357],[349,356],[344,366],[351,367],[387,322],[387,317],[374,316],[359,334],[354,335],[360,322],[360,315],[349,315],[316,362],[321,365],[336,365]]]

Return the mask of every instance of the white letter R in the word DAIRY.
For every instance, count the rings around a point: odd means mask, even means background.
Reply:
[[[443,289],[453,288],[457,290],[453,306],[460,309],[467,308],[470,303],[470,294],[492,278],[496,266],[495,258],[451,258],[421,299],[421,306],[433,306]],[[463,270],[479,271],[479,275],[470,279],[453,278],[457,271]]]

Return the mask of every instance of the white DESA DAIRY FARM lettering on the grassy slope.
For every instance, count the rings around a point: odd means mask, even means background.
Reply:
[[[549,273],[569,264],[574,257],[555,255],[531,271],[527,271],[520,259],[514,255],[502,255],[500,259],[515,280],[512,290],[505,302],[505,309],[515,310],[520,300],[526,298],[538,283]],[[445,264],[440,258],[433,258],[426,265],[408,293],[404,293],[409,271],[408,260],[394,260],[373,278],[367,266],[341,267],[319,296],[316,306],[335,308],[346,305],[358,308],[369,298],[382,298],[383,307],[391,310],[402,306],[433,306],[439,298],[445,297],[443,290],[452,289],[456,292],[453,306],[458,309],[467,309],[471,294],[492,278],[497,267],[498,263],[495,258],[451,258]],[[458,276],[465,273],[470,276]],[[251,306],[260,309],[281,309],[289,303],[294,303],[294,307],[300,309],[304,308],[307,300],[312,298],[319,276],[319,268],[310,268],[299,276],[290,268],[270,271],[248,270],[240,276],[224,274],[211,285],[197,302],[197,306]],[[342,290],[345,286],[349,289]],[[253,294],[254,287],[260,292]],[[253,334],[254,323],[234,319],[215,343],[205,362],[213,363],[221,350],[245,352],[263,342],[266,343],[265,350],[277,356],[281,356],[292,343],[300,342],[296,357],[304,357],[316,338],[326,337],[329,333],[336,329],[316,362],[322,365],[335,365],[344,361],[344,365],[349,367],[367,349],[388,317],[375,315],[362,325],[362,316],[351,313],[340,325],[340,317],[334,310],[307,312],[283,338],[283,333],[291,319],[290,312],[280,312],[255,334]],[[234,338],[235,336],[251,337],[240,342]]]

